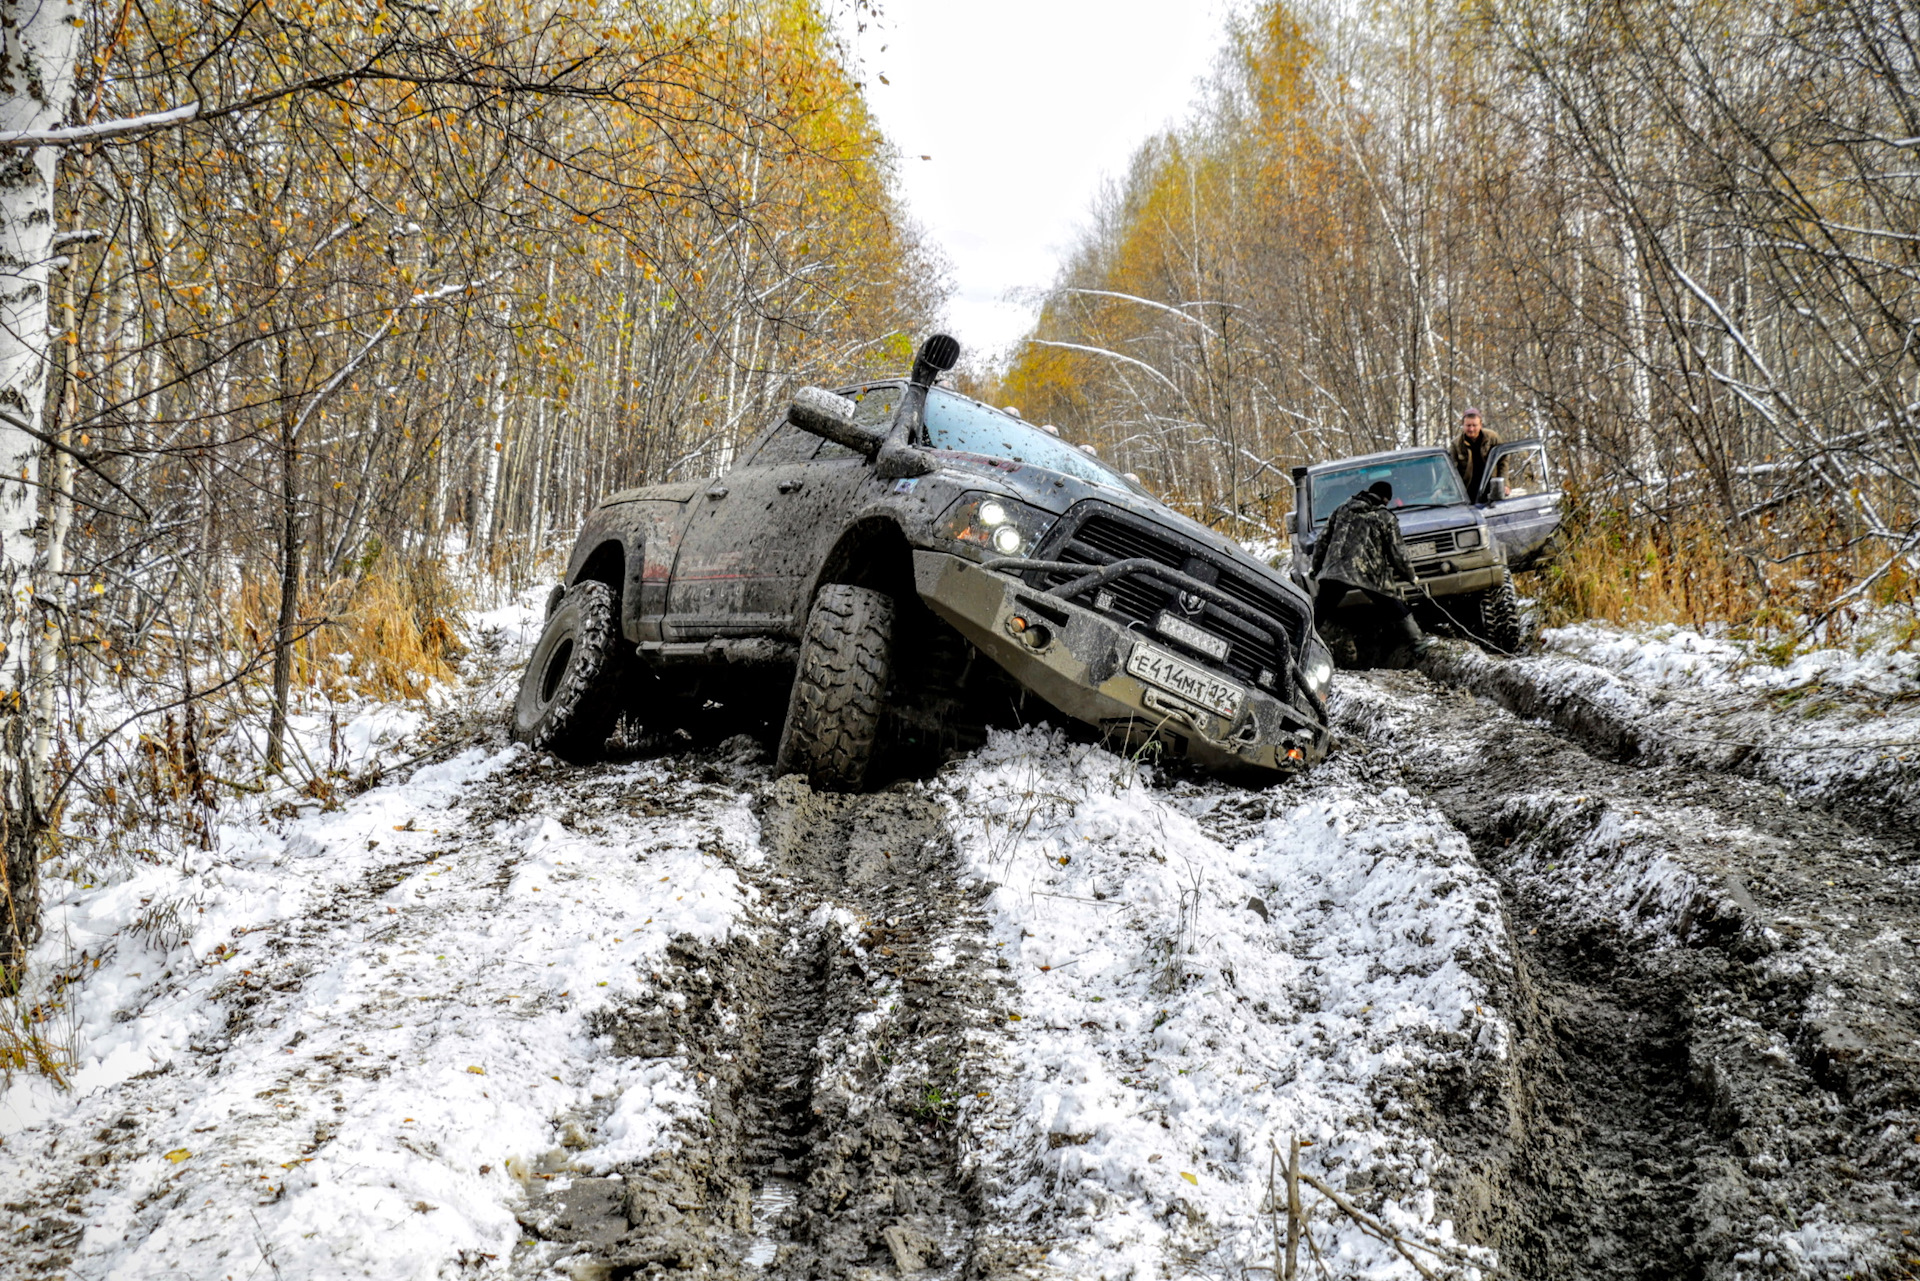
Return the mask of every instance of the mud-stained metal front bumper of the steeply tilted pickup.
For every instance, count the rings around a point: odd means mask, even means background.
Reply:
[[[1219,772],[1298,772],[1327,757],[1331,730],[1263,689],[1246,691],[1229,722],[1127,668],[1131,647],[1146,640],[1123,624],[1025,582],[945,551],[914,553],[920,597],[981,653],[1062,714],[1121,741],[1162,743]],[[1044,643],[1008,630],[1014,615],[1044,624]],[[1164,641],[1154,641],[1164,647]],[[1196,663],[1196,666],[1200,666]]]

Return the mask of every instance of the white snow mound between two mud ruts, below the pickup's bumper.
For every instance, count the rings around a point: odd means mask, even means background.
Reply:
[[[1396,1083],[1501,1062],[1513,1033],[1475,978],[1505,964],[1498,889],[1436,810],[1340,764],[1169,791],[1037,728],[939,787],[1018,983],[1006,1127],[981,1127],[977,1162],[998,1218],[1052,1218],[1058,1275],[1271,1266],[1269,1162],[1292,1135],[1309,1173],[1455,1243],[1446,1156]],[[1415,1275],[1327,1208],[1311,1227],[1336,1275]]]

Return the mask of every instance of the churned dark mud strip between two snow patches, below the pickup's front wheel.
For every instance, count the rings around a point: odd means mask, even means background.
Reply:
[[[981,1093],[991,962],[939,809],[902,786],[760,801],[751,935],[678,949],[655,999],[603,1020],[616,1054],[682,1058],[708,1116],[616,1177],[522,1216],[520,1275],[960,1277],[977,1239],[962,1100]]]

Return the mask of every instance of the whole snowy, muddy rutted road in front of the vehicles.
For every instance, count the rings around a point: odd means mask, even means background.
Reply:
[[[829,797],[488,720],[228,835],[217,926],[96,926],[119,1041],[19,1104],[0,1264],[1265,1275],[1300,1137],[1329,1275],[1920,1275],[1897,807],[1432,670],[1344,678],[1267,791],[1025,730]]]

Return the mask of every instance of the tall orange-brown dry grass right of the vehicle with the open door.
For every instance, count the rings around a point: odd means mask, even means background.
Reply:
[[[1730,532],[1713,519],[1630,519],[1572,497],[1561,547],[1532,574],[1532,593],[1548,626],[1584,618],[1724,624],[1786,661],[1809,645],[1912,645],[1920,638],[1920,582],[1901,565],[1832,607],[1884,561],[1878,542],[1849,544],[1832,515],[1786,513]]]

